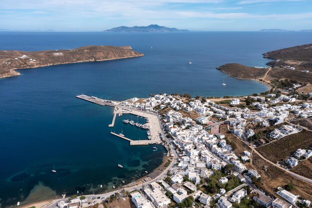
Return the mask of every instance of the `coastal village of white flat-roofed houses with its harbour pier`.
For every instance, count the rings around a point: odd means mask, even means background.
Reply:
[[[299,87],[294,84],[293,90]],[[311,172],[300,175],[293,171],[312,158],[311,141],[303,141],[311,140],[312,125],[302,122],[312,117],[312,93],[307,93],[306,100],[290,94],[270,90],[260,95],[223,99],[157,94],[123,102],[77,96],[115,107],[114,117],[122,113],[149,115],[150,119],[155,116],[159,123],[150,121],[146,125],[153,139],[144,145],[162,143],[168,151],[168,162],[140,183],[131,183],[95,197],[73,196],[53,205],[59,208],[99,205],[108,208],[119,207],[119,203],[128,200],[129,207],[132,204],[136,208],[310,207],[309,188],[305,190],[307,194],[301,196],[294,194],[295,182],[288,181],[270,189],[263,179],[270,174],[266,173],[269,166],[274,165],[285,175],[290,174],[309,186],[312,183]],[[152,129],[157,131],[152,134]],[[293,145],[288,155],[281,153],[279,148],[274,149],[275,144],[287,140],[302,144]],[[253,165],[251,161],[258,155],[270,157],[266,152],[268,148],[273,156],[277,153],[284,158],[272,162],[270,158],[265,159],[268,164],[262,167]]]

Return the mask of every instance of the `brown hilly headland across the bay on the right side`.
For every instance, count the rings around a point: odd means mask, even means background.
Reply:
[[[268,68],[228,63],[216,69],[238,79],[254,79],[272,85],[276,80],[295,80],[312,84],[312,44],[299,45],[266,52]]]

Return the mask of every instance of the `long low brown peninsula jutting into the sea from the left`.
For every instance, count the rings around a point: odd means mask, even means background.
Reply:
[[[0,78],[20,75],[15,69],[37,68],[49,65],[105,61],[140,57],[130,46],[92,45],[70,50],[17,51],[0,50]]]

